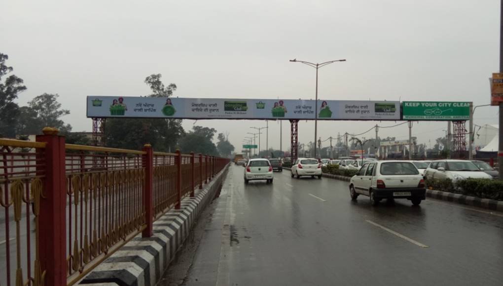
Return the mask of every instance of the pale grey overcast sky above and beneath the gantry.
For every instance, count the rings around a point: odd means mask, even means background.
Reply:
[[[28,88],[19,104],[58,93],[74,131],[91,131],[86,96],[147,95],[143,80],[150,74],[175,83],[179,97],[313,99],[315,69],[288,60],[344,58],[320,69],[319,98],[481,105],[489,103],[488,78],[499,66],[497,0],[5,0],[0,13],[0,52]],[[497,116],[496,107],[482,107],[475,123],[497,124]],[[186,129],[193,124],[184,120]],[[236,147],[250,126],[266,126],[250,120],[196,124],[228,132]],[[324,140],[375,124],[323,121],[318,134]],[[280,124],[269,126],[269,147],[279,148]],[[406,139],[406,126],[379,136]],[[446,127],[420,122],[412,135],[433,145]],[[300,121],[299,133],[301,142],[312,141],[314,123]],[[289,136],[284,121],[284,150]]]

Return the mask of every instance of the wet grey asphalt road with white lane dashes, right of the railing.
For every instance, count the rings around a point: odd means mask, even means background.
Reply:
[[[503,213],[428,198],[351,201],[348,182],[245,185],[231,166],[158,286],[501,285]]]

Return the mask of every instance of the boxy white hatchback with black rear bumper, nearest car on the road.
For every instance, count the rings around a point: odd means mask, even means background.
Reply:
[[[382,199],[405,198],[418,205],[426,199],[425,180],[407,161],[372,161],[365,163],[349,185],[352,200],[370,197],[372,205]]]

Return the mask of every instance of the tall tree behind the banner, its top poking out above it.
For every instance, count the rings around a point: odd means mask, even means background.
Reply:
[[[177,90],[175,84],[165,87],[160,78],[153,74],[145,79],[152,92],[149,97],[170,97]],[[106,145],[115,148],[138,150],[148,143],[155,151],[173,152],[184,134],[180,119],[110,118],[105,126]]]

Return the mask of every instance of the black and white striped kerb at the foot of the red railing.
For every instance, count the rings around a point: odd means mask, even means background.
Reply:
[[[206,205],[222,187],[224,168],[195,197],[182,200],[181,209],[172,209],[153,223],[153,236],[141,234],[98,265],[79,284],[93,286],[150,286],[175,258],[189,236],[193,224]]]

